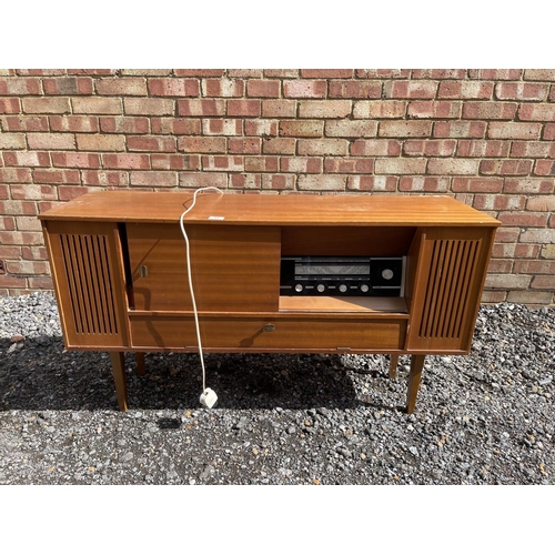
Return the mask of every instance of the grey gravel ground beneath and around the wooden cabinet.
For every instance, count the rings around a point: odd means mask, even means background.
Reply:
[[[56,301],[0,299],[0,484],[555,484],[555,310],[483,306],[468,356],[64,352]]]

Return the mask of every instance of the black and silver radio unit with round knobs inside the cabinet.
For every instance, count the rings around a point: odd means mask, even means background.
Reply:
[[[281,295],[403,296],[405,256],[282,256]]]

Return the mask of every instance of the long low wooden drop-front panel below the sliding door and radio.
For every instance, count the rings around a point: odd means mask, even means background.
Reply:
[[[200,327],[203,347],[214,350],[396,351],[404,347],[406,320],[201,316]],[[131,336],[134,349],[196,347],[192,316],[131,319]]]

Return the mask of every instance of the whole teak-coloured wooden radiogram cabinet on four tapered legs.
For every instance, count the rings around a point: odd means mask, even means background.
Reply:
[[[68,350],[196,352],[189,192],[102,191],[39,215]],[[467,354],[500,222],[448,196],[204,192],[184,219],[205,352]]]

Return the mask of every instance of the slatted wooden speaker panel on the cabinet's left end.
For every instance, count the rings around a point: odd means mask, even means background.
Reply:
[[[128,346],[118,225],[43,222],[67,347]]]

